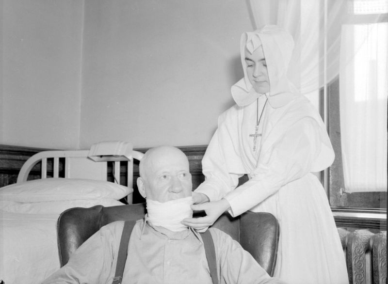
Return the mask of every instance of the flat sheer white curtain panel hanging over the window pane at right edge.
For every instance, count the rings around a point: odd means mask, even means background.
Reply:
[[[339,75],[346,192],[387,191],[388,23],[342,27]]]

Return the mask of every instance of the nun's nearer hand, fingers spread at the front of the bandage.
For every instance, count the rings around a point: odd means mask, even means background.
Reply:
[[[226,199],[218,201],[207,202],[203,204],[191,205],[194,211],[205,211],[205,217],[199,218],[186,218],[183,219],[182,224],[192,227],[198,232],[205,232],[209,226],[211,226],[218,217],[221,216],[227,209],[230,208],[229,202]]]

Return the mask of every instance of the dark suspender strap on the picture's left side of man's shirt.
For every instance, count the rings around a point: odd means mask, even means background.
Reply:
[[[112,284],[121,284],[121,281],[123,280],[125,262],[127,261],[129,237],[135,224],[136,221],[132,220],[124,222],[123,233],[121,234],[120,246],[117,255],[116,273],[114,274]]]

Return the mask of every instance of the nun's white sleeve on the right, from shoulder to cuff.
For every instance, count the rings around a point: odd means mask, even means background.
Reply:
[[[309,173],[321,151],[319,130],[315,120],[305,117],[280,136],[266,153],[261,153],[252,178],[225,196],[231,208],[229,213],[238,216],[283,185]]]

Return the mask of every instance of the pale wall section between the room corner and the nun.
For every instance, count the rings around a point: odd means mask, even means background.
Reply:
[[[244,1],[85,1],[81,148],[207,144],[242,77]]]

